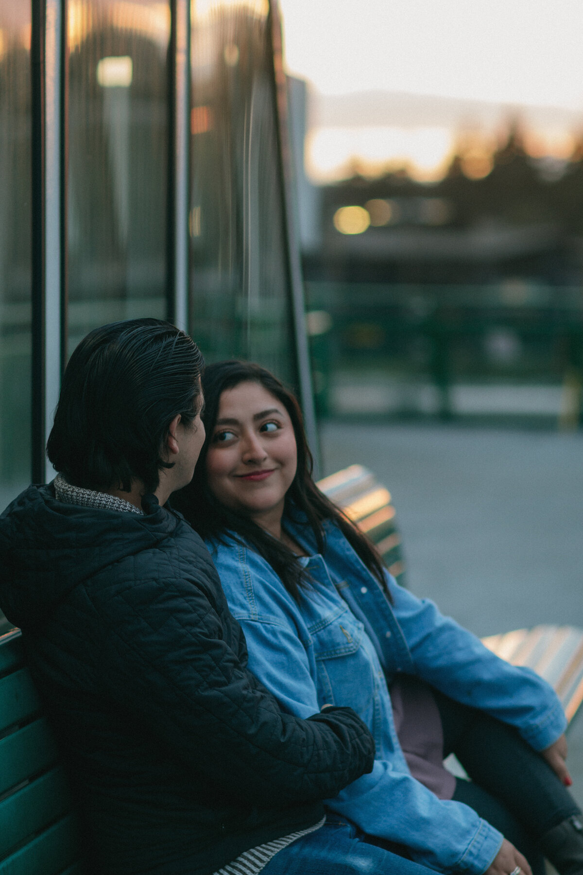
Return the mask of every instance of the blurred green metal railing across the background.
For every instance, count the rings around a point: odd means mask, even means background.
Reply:
[[[321,416],[580,423],[580,287],[310,282],[307,299]]]

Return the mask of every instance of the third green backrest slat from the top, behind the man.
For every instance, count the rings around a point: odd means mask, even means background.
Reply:
[[[50,768],[57,758],[57,749],[45,718],[1,739],[0,795]]]

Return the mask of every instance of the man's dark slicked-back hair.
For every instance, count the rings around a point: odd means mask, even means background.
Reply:
[[[129,492],[140,479],[154,492],[172,466],[162,455],[170,423],[197,416],[204,364],[188,334],[161,319],[95,328],[66,366],[46,444],[52,465],[74,486]]]

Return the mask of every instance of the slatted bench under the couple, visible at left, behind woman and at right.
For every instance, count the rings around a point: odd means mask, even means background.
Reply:
[[[318,485],[371,538],[404,584],[399,529],[385,486],[362,465],[350,465]],[[20,631],[0,613],[0,875],[80,875],[65,774],[19,639]],[[573,718],[583,699],[583,631],[538,626],[484,643],[504,659],[538,671]]]

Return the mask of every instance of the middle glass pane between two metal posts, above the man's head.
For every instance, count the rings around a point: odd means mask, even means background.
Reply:
[[[69,352],[115,319],[166,315],[170,6],[71,0]]]

